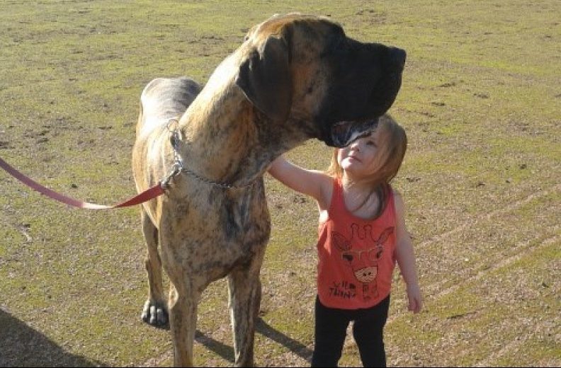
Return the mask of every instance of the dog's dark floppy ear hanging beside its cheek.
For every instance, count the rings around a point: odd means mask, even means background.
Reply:
[[[270,36],[239,67],[236,84],[271,120],[284,121],[292,105],[290,50],[284,38]]]

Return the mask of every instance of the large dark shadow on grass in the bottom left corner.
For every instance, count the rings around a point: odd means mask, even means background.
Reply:
[[[0,309],[0,367],[103,367],[64,351],[38,330]]]

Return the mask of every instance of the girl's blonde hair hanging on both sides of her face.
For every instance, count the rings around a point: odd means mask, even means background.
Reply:
[[[385,207],[385,198],[387,197],[385,187],[397,175],[397,171],[402,165],[407,150],[407,134],[389,115],[380,117],[375,130],[379,131],[378,151],[376,152],[378,166],[370,176],[370,184],[372,185],[372,192],[378,192],[382,200],[382,207]],[[343,168],[337,161],[338,153],[339,149],[334,149],[326,173],[333,178],[340,179],[343,176]]]

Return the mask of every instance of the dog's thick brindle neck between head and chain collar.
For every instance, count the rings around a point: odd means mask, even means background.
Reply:
[[[297,125],[272,124],[234,84],[236,74],[219,71],[181,117],[179,153],[185,166],[200,176],[244,185],[261,176],[278,155],[310,137],[290,129]]]

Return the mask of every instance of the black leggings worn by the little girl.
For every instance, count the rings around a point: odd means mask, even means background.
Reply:
[[[389,295],[371,308],[353,310],[328,308],[316,297],[312,367],[337,367],[350,321],[363,366],[385,367],[383,333],[389,307]]]

